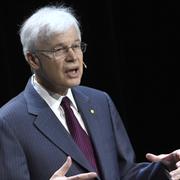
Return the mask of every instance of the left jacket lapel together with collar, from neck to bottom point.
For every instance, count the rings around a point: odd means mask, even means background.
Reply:
[[[79,163],[88,171],[93,171],[83,153],[74,143],[72,137],[65,130],[46,102],[34,90],[30,82],[28,83],[24,94],[29,113],[37,116],[34,121],[37,129],[54,145],[64,151],[64,153],[71,156],[74,161]]]

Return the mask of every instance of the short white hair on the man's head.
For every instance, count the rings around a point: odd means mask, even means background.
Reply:
[[[41,38],[48,38],[55,33],[66,31],[74,26],[81,39],[80,24],[71,8],[64,6],[46,6],[32,14],[20,28],[23,53],[33,51]]]

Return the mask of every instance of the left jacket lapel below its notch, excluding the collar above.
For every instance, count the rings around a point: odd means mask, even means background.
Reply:
[[[85,159],[82,152],[79,150],[70,134],[65,130],[63,125],[55,117],[54,113],[47,109],[44,109],[38,114],[36,121],[34,122],[36,127],[58,148],[64,151],[67,155],[71,156],[80,165],[92,171],[91,166]]]

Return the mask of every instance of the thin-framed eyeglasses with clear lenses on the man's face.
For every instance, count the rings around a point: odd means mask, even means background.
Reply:
[[[45,56],[48,56],[49,58],[59,59],[63,58],[67,55],[69,49],[72,49],[74,53],[78,54],[81,52],[85,52],[87,48],[87,44],[84,42],[81,43],[75,43],[71,46],[60,46],[53,49],[37,49],[34,50],[33,53],[43,53]]]

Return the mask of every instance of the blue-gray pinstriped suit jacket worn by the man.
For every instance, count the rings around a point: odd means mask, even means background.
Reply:
[[[160,163],[134,163],[122,120],[105,92],[83,86],[72,92],[94,145],[98,179],[168,179]],[[73,160],[67,176],[94,171],[29,81],[25,90],[0,110],[0,179],[48,180],[67,156]]]

